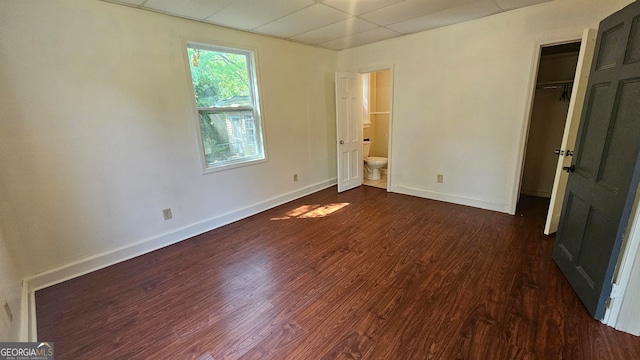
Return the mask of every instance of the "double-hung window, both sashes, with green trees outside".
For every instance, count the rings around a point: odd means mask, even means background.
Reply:
[[[265,160],[251,51],[187,43],[205,172]]]

